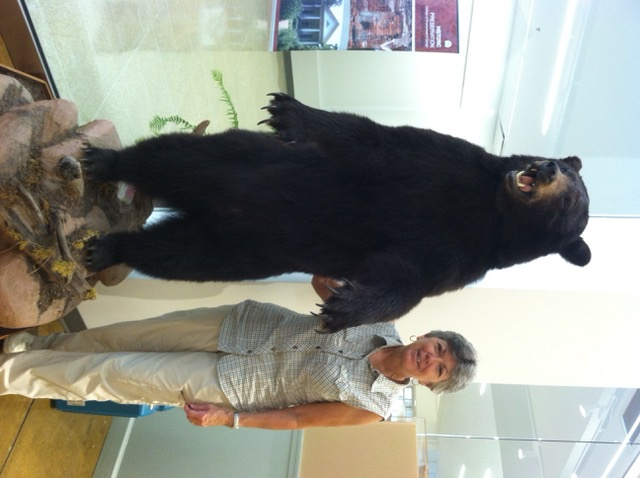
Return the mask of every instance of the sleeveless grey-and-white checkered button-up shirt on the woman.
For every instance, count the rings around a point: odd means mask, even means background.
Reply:
[[[322,322],[251,300],[225,318],[218,350],[222,391],[239,411],[343,402],[387,417],[404,387],[373,369],[374,350],[402,345],[392,324],[361,325],[333,334]]]

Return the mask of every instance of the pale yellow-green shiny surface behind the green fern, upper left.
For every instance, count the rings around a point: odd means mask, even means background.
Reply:
[[[271,1],[27,0],[62,98],[80,122],[108,119],[122,142],[150,134],[154,115],[229,126],[211,70],[222,72],[240,127],[264,118],[266,94],[286,89],[269,52]]]

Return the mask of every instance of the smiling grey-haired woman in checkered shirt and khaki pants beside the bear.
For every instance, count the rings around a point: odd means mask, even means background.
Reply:
[[[335,334],[321,326],[245,301],[75,334],[16,334],[3,346],[0,394],[184,405],[196,425],[293,429],[378,421],[410,379],[454,391],[475,372],[473,347],[453,332],[402,345],[389,323]]]

